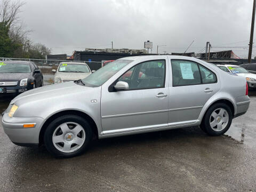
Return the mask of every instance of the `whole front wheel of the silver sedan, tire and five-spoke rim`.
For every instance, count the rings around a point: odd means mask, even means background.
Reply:
[[[54,119],[44,133],[45,147],[55,157],[82,154],[91,139],[90,124],[77,115],[63,115]]]

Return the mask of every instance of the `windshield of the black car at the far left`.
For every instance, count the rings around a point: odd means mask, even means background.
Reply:
[[[0,73],[30,73],[30,65],[25,63],[0,62]]]

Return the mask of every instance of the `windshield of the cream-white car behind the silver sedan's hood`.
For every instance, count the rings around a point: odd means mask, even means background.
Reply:
[[[90,73],[86,64],[60,63],[59,72]]]

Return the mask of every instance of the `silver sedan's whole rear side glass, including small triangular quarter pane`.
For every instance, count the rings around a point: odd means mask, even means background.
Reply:
[[[173,86],[198,85],[217,82],[216,75],[193,61],[172,60]]]

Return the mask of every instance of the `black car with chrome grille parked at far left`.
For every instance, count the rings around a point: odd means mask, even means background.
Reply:
[[[0,61],[0,94],[19,94],[43,86],[43,75],[31,61]]]

